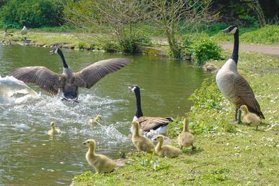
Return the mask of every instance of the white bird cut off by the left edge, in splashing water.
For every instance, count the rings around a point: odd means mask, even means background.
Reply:
[[[10,97],[15,93],[30,94],[33,96],[38,96],[38,93],[33,91],[32,88],[24,84],[24,82],[16,79],[13,76],[1,77],[0,75],[0,95],[5,97]]]

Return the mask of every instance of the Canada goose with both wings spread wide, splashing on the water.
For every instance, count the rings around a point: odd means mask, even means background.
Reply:
[[[33,83],[52,95],[62,92],[62,100],[78,99],[78,88],[91,88],[106,75],[115,72],[130,63],[130,59],[106,59],[98,61],[80,70],[73,72],[66,63],[61,49],[56,48],[51,54],[59,54],[63,62],[63,74],[52,72],[43,66],[17,68],[10,72],[17,79],[26,83]]]

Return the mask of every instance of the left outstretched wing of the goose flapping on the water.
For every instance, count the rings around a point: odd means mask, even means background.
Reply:
[[[58,93],[59,88],[63,87],[66,80],[63,75],[52,72],[52,70],[43,66],[17,68],[10,72],[10,75],[24,83],[36,84],[53,95]]]

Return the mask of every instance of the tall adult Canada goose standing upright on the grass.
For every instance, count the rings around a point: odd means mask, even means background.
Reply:
[[[259,103],[257,102],[252,88],[237,71],[237,61],[239,59],[239,29],[236,26],[229,26],[223,30],[224,33],[234,33],[234,51],[231,58],[223,65],[216,75],[216,83],[225,98],[236,107],[234,121],[241,123],[242,104],[246,104],[249,111],[264,118]],[[237,116],[239,111],[239,116]]]

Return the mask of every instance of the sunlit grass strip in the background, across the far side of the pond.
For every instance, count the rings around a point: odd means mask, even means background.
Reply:
[[[153,44],[156,46],[163,45],[164,49],[167,45],[165,34],[152,32],[144,28],[144,34],[147,37],[151,37]],[[222,28],[218,27],[218,31],[204,31],[202,33],[185,33],[181,36],[181,40],[184,38],[191,38],[192,40],[211,38],[215,42],[233,42],[233,37],[229,34],[223,34],[220,30]],[[21,36],[20,30],[10,29],[8,33],[13,34],[13,36],[3,37],[0,34],[0,40],[10,42],[12,44],[20,45],[34,45],[40,47],[50,47],[59,44],[61,47],[72,48],[72,49],[106,49],[106,47],[114,47],[112,39],[106,36],[93,34],[93,33],[77,33],[75,29],[64,29],[59,28],[43,28],[43,29],[29,29],[27,40],[31,40],[29,44],[24,44],[24,37]],[[155,37],[154,37],[155,34]],[[279,26],[265,26],[259,29],[245,29],[240,28],[240,40],[241,43],[252,43],[252,44],[269,44],[269,45],[279,45]]]

